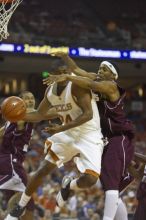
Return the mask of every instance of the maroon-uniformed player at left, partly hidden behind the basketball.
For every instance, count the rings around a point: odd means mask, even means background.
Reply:
[[[31,92],[24,91],[19,97],[24,100],[27,112],[34,111],[35,98]],[[33,124],[24,121],[6,122],[5,126],[0,129],[0,191],[4,193],[9,208],[18,200],[27,184],[23,162],[28,151],[32,130]],[[33,210],[34,202],[31,199],[22,219],[33,219]]]

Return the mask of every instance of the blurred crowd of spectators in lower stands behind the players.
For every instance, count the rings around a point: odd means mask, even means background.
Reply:
[[[129,92],[127,94],[127,113],[129,119],[132,119],[135,124],[136,136],[134,140],[135,150],[145,154],[146,149],[146,114],[145,101],[137,95],[136,92]],[[44,158],[43,145],[48,134],[43,132],[43,128],[47,126],[48,122],[41,122],[34,127],[34,134],[30,144],[30,150],[25,161],[25,169],[31,175],[40,165]],[[35,210],[35,220],[100,220],[104,206],[104,193],[100,182],[92,187],[90,190],[80,191],[72,194],[68,203],[62,209],[56,206],[56,195],[60,189],[61,180],[64,175],[77,176],[78,172],[73,161],[67,163],[65,167],[57,169],[52,174],[48,175],[43,182],[43,185],[38,188],[33,195],[35,203],[39,205],[40,209],[45,211],[45,217],[38,217],[38,209]],[[130,187],[122,193],[122,198],[127,206],[129,213],[129,220],[132,219],[132,214],[135,211],[136,189],[138,182],[134,181]],[[0,220],[6,212],[7,204],[3,195],[0,193]]]

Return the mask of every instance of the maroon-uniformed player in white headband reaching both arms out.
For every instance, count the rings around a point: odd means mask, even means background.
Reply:
[[[105,190],[105,208],[103,220],[113,220],[118,207],[119,190],[124,181],[126,170],[133,156],[134,147],[133,125],[124,114],[125,91],[120,88],[116,80],[118,69],[111,62],[103,61],[98,73],[89,73],[79,68],[65,53],[53,53],[68,65],[71,71],[78,75],[51,76],[44,80],[44,84],[51,82],[72,81],[74,84],[91,89],[100,94],[98,108],[101,117],[103,135],[108,138],[108,145],[104,150],[102,161],[101,182]],[[69,190],[69,187],[68,187]],[[67,199],[67,198],[66,198]],[[126,220],[127,216],[120,216]],[[120,220],[120,217],[118,220]]]

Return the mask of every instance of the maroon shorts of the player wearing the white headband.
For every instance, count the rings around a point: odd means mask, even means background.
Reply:
[[[102,157],[100,176],[105,191],[123,189],[121,184],[123,184],[133,153],[134,146],[128,136],[114,136],[109,139]]]

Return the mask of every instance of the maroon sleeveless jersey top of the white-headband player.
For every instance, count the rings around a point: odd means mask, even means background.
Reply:
[[[120,98],[116,102],[100,99],[97,102],[101,118],[102,133],[106,137],[125,134],[133,137],[133,124],[127,120],[124,112],[125,90],[118,87]]]

